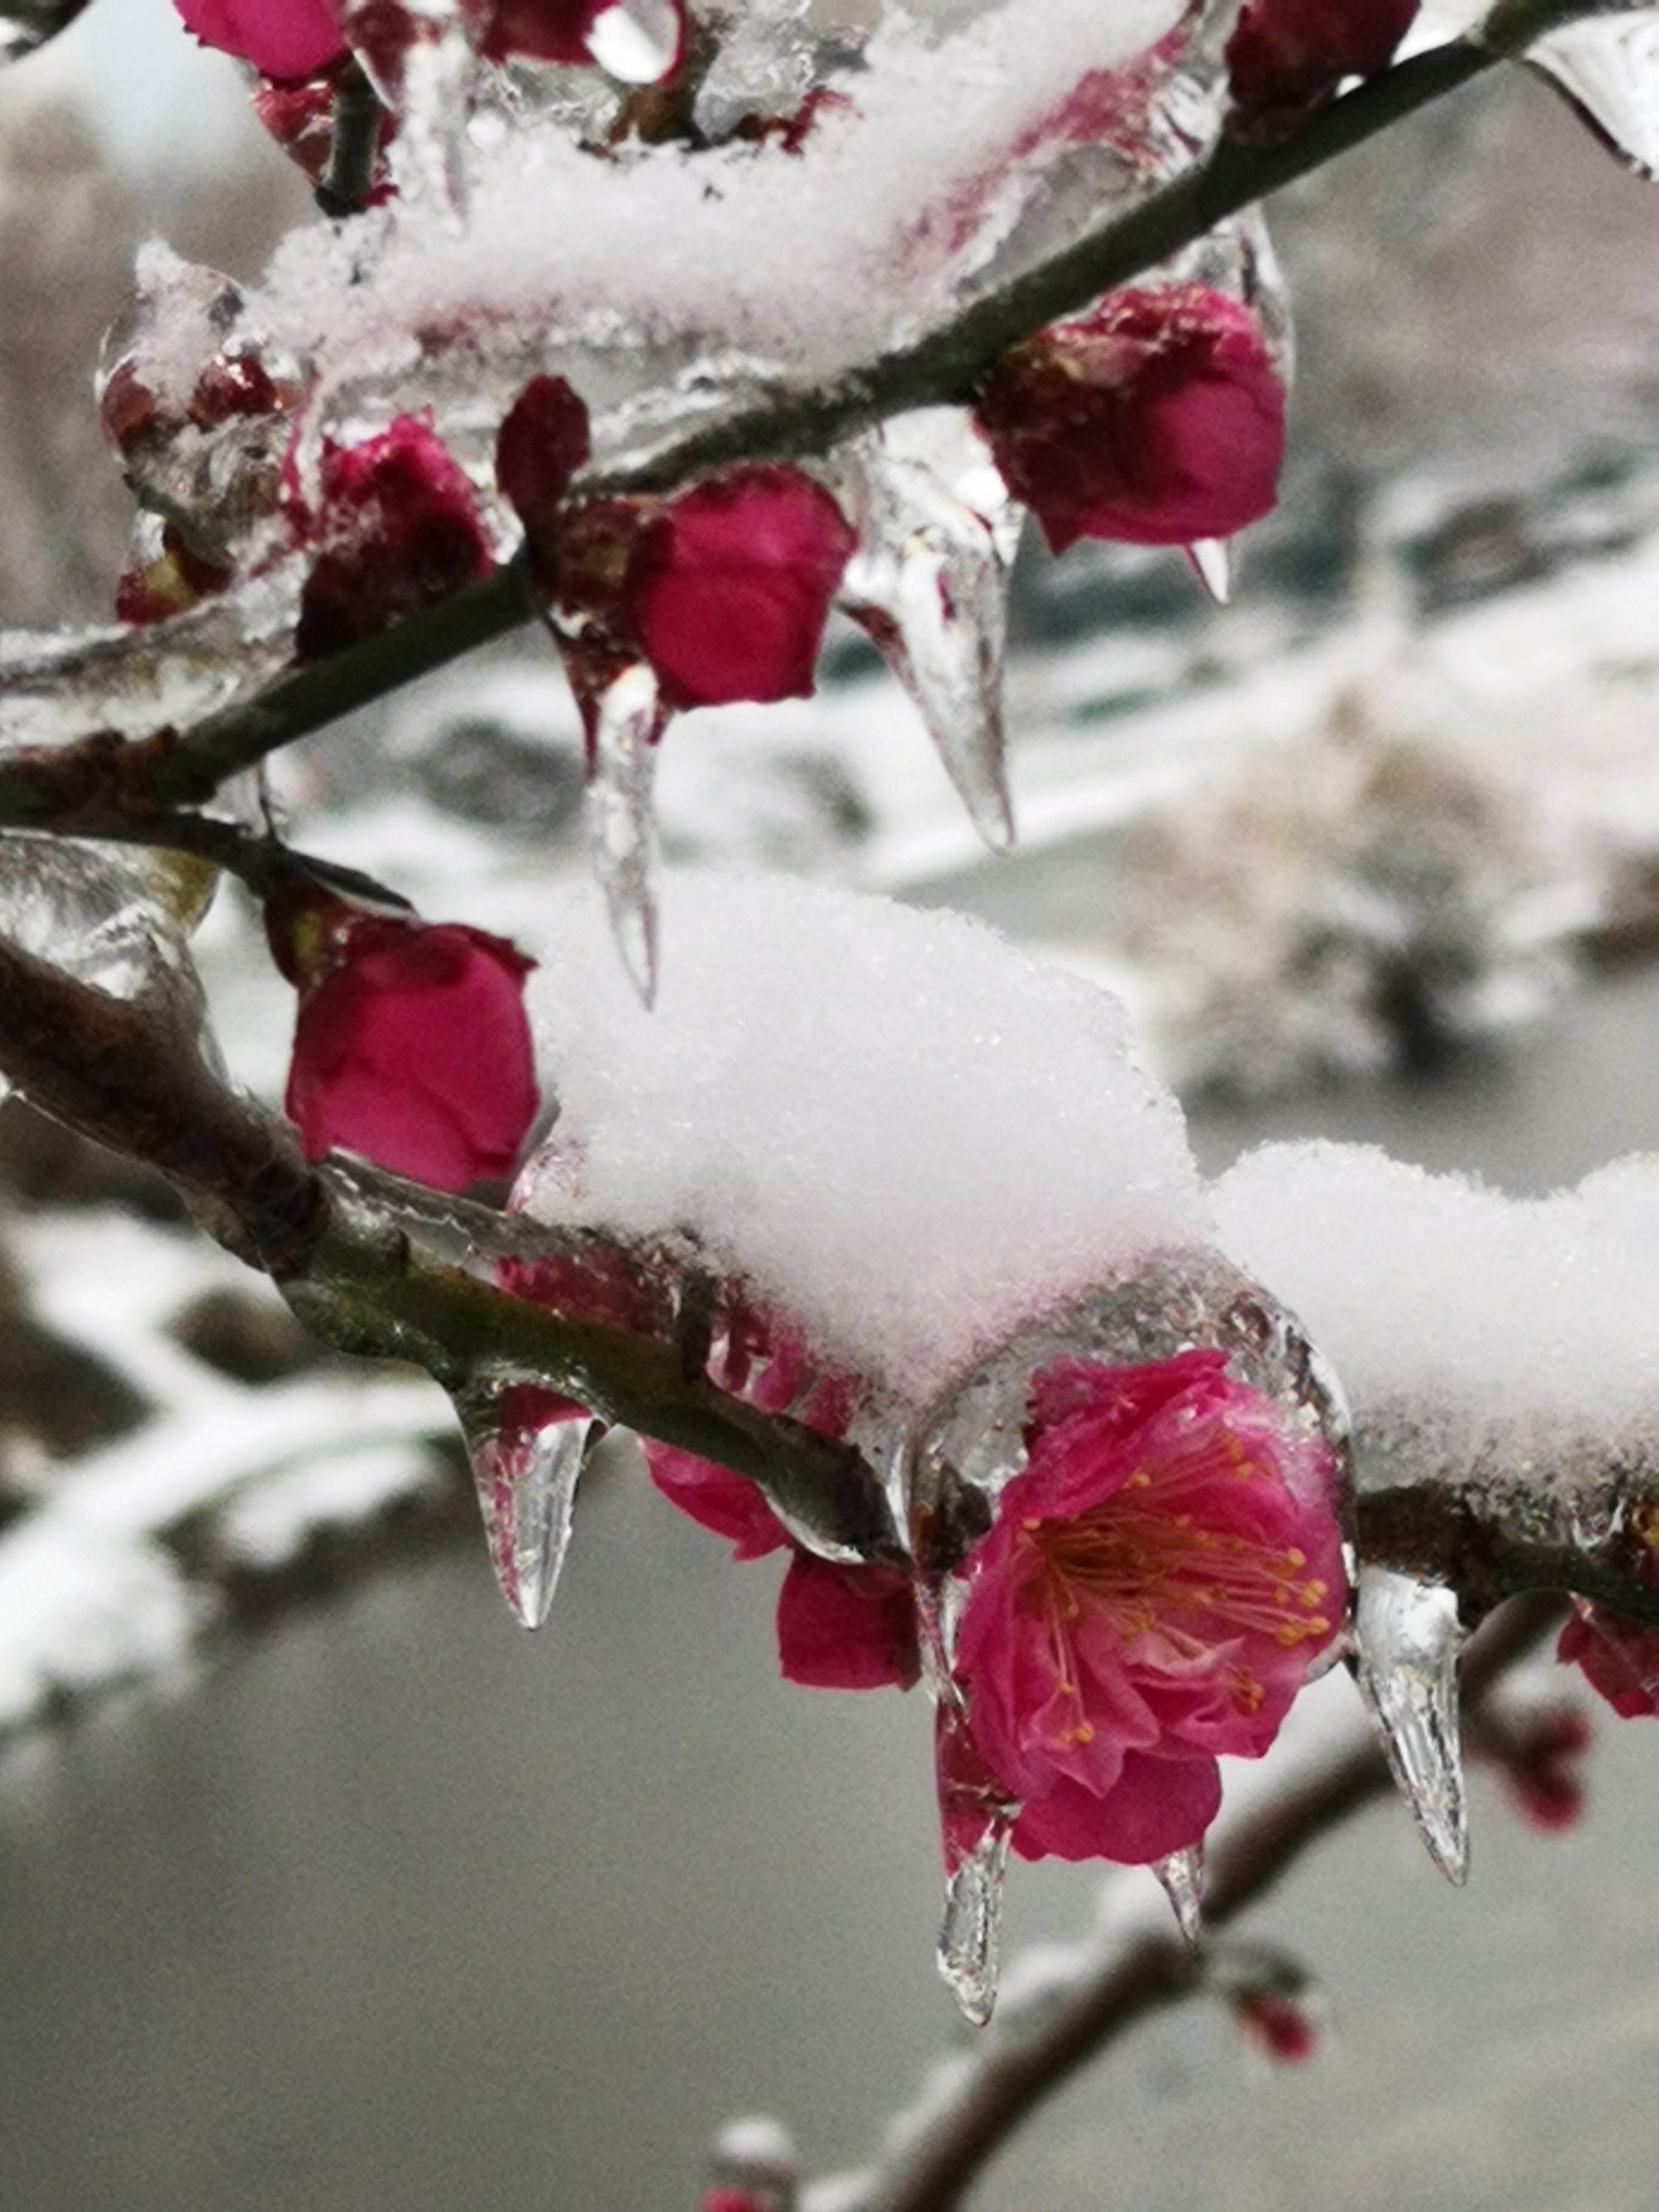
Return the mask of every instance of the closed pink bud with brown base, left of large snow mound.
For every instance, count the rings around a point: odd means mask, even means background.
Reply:
[[[283,1106],[307,1159],[338,1146],[434,1190],[511,1175],[538,1110],[533,960],[299,874],[268,896],[265,931],[299,987]]]

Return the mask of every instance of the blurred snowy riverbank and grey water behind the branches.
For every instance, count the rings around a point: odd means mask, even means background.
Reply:
[[[91,363],[137,243],[252,279],[307,206],[166,0],[97,0],[0,93],[0,622],[93,624],[131,511]],[[1011,860],[852,635],[818,701],[675,732],[666,841],[1113,982],[1208,1168],[1327,1133],[1546,1190],[1659,1144],[1659,190],[1511,71],[1274,234],[1283,509],[1225,613],[1175,555],[1029,551]],[[533,945],[582,867],[535,641],[281,774],[434,916]],[[230,898],[201,949],[279,1095],[290,1009]],[[779,1683],[774,1568],[622,1444],[526,1639],[436,1394],[365,1394],[15,1104],[0,1183],[0,2203],[672,2212],[754,2108],[860,2163],[964,2033],[920,1703]],[[1394,1805],[1334,1836],[1252,1916],[1323,1989],[1314,2062],[1192,2004],[978,2212],[1646,2212],[1659,1741],[1608,1714],[1586,1783],[1562,1836],[1478,1783],[1464,1893]],[[1013,1951],[1097,1893],[1018,1869]]]

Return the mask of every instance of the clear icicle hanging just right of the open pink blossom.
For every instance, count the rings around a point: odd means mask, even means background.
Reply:
[[[1354,1613],[1356,1674],[1389,1767],[1429,1856],[1451,1882],[1469,1874],[1469,1812],[1458,1739],[1458,1593],[1387,1566],[1363,1566]]]

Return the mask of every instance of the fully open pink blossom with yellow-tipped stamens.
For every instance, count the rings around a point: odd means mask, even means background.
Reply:
[[[969,1557],[956,1679],[1026,1858],[1199,1840],[1343,1617],[1334,1460],[1221,1352],[1055,1360]]]

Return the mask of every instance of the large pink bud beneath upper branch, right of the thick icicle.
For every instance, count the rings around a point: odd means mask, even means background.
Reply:
[[[975,416],[1055,553],[1230,538],[1279,495],[1283,385],[1250,310],[1208,285],[1051,323],[998,361]]]

